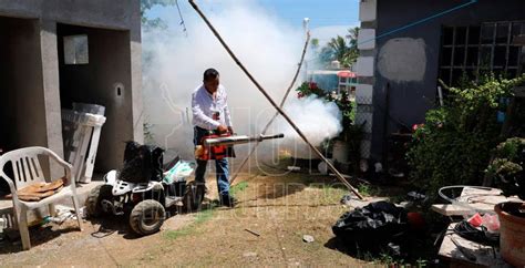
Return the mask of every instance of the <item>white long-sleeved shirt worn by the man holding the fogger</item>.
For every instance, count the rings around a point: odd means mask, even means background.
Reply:
[[[214,95],[204,87],[204,84],[197,87],[192,94],[192,112],[194,126],[205,130],[216,130],[219,125],[231,126],[226,89],[219,84]],[[213,114],[219,113],[219,120],[214,120]]]

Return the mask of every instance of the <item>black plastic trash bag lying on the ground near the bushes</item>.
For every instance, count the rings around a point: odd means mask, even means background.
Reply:
[[[388,202],[371,203],[344,213],[332,226],[333,234],[350,249],[394,251],[408,230],[406,210]]]

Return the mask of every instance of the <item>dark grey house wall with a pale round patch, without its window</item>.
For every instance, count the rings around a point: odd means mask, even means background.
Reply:
[[[378,0],[375,33],[429,18],[465,1],[455,0]],[[488,21],[525,20],[523,0],[480,0],[477,3],[419,25],[377,40],[374,69],[374,116],[372,157],[380,159],[384,141],[385,87],[390,84],[390,117],[387,133],[400,123],[422,123],[425,111],[435,101],[442,25],[475,25]]]

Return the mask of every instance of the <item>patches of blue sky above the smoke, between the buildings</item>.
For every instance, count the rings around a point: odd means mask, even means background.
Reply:
[[[200,0],[197,1],[204,12],[214,12],[222,9],[224,0]],[[303,18],[309,18],[311,38],[319,39],[320,43],[328,42],[331,38],[347,34],[347,29],[359,25],[359,1],[360,0],[235,0],[255,2],[269,13],[276,16],[281,21],[292,28],[302,28]],[[186,0],[178,0],[183,19],[194,16]],[[174,7],[152,9],[148,17],[162,17],[166,13],[177,17]],[[169,27],[182,28],[177,23]],[[191,32],[191,29],[188,29]]]

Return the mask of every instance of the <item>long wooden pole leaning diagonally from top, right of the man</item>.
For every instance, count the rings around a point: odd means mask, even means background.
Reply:
[[[197,7],[195,1],[194,0],[188,0],[188,2],[189,2],[189,4],[192,4],[192,7],[195,9],[195,11],[197,11],[197,13],[204,20],[204,22],[208,25],[209,30],[212,30],[212,32],[217,38],[217,40],[220,42],[220,44],[223,44],[224,49],[228,52],[228,54],[231,56],[231,59],[235,61],[235,63],[237,63],[237,65],[240,68],[240,70],[243,70],[243,72],[246,74],[246,76],[248,76],[248,79],[260,91],[260,93],[262,93],[262,95],[265,95],[265,97],[277,110],[277,112],[279,112],[279,114],[288,122],[288,124],[290,124],[290,126],[297,132],[297,134],[317,154],[317,156],[319,156],[319,158],[321,158],[327,164],[328,168],[331,172],[333,172],[333,174],[336,174],[337,178],[339,178],[339,181],[341,181],[341,183],[344,184],[344,186],[347,186],[347,188],[350,189],[353,194],[356,194],[360,199],[363,199],[361,194],[359,194],[359,192],[349,182],[347,182],[347,179],[344,179],[344,177],[341,175],[341,173],[339,173],[339,171],[321,154],[321,152],[319,152],[319,150],[317,150],[316,146],[313,146],[313,144],[311,144],[310,141],[308,141],[308,138],[305,136],[305,134],[301,132],[301,130],[299,130],[299,127],[297,127],[297,125],[294,123],[294,121],[291,121],[291,118],[285,113],[285,111],[282,111],[282,109],[280,109],[279,105],[277,105],[277,103],[274,101],[274,99],[271,99],[271,96],[268,94],[268,92],[266,92],[265,89],[262,89],[262,86],[257,82],[257,80],[255,80],[255,78],[251,75],[251,73],[248,72],[248,70],[245,68],[245,65],[243,65],[243,63],[239,61],[239,59],[237,59],[237,56],[234,54],[234,52],[229,49],[229,47],[223,40],[220,34],[217,32],[217,30],[215,30],[212,22],[209,22],[209,20],[206,18],[206,16],[203,13],[203,11],[200,11],[200,9]]]

